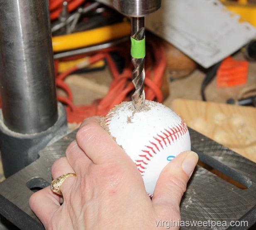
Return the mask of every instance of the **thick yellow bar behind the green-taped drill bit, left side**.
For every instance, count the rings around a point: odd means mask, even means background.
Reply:
[[[81,47],[93,46],[95,44],[104,43],[117,38],[122,38],[130,35],[130,33],[129,22],[120,22],[88,31],[63,36],[54,36],[52,38],[52,46],[54,52],[73,50]]]

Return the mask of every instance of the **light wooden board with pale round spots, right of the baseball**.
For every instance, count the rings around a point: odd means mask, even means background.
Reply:
[[[185,99],[167,106],[189,127],[256,162],[256,108]]]

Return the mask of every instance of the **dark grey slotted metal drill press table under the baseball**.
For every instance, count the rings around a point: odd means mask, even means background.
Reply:
[[[205,164],[216,168],[243,184],[246,189],[226,182],[197,165],[181,202],[181,220],[211,223],[256,221],[256,164],[231,149],[189,128],[193,150]],[[40,151],[39,159],[0,183],[0,214],[20,229],[44,229],[29,208],[33,191],[51,182],[51,165],[64,156],[66,147],[75,139],[76,131]],[[170,194],[171,195],[171,194]],[[236,222],[234,222],[236,223]],[[238,222],[237,222],[238,223]],[[220,226],[189,226],[180,229],[236,229]],[[243,228],[243,229],[249,229]]]

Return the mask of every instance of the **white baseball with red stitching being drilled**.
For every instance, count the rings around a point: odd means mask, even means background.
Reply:
[[[110,135],[136,164],[149,196],[166,164],[191,148],[185,122],[155,101],[146,100],[140,111],[131,101],[122,102],[110,110],[105,121]]]

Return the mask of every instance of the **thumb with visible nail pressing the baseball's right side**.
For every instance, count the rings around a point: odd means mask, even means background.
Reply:
[[[187,183],[195,169],[198,156],[193,151],[184,151],[163,168],[156,182],[152,204],[161,212],[166,208],[178,210]]]

